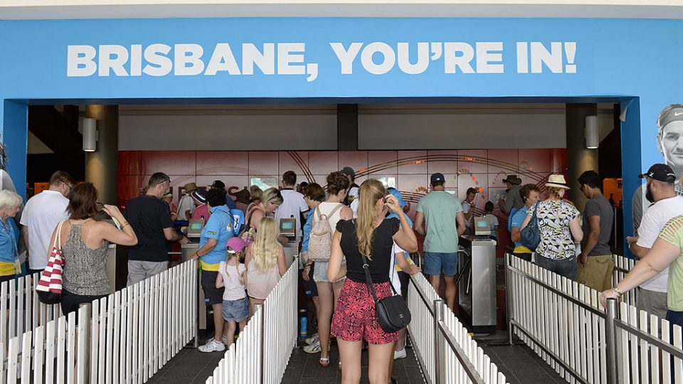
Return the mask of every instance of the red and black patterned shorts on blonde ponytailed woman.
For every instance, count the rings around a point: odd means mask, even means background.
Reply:
[[[389,282],[374,284],[378,299],[392,295]],[[398,340],[398,332],[385,332],[377,322],[375,303],[365,282],[346,279],[332,315],[331,332],[344,341],[365,340],[371,344],[388,344]]]

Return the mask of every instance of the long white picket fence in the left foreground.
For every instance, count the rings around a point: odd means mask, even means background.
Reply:
[[[0,383],[145,383],[194,338],[196,297],[189,261],[81,306],[0,348]]]

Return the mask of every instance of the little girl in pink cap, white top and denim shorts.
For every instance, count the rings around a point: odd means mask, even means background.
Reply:
[[[240,331],[247,324],[249,317],[249,300],[244,290],[244,274],[246,268],[240,263],[243,260],[247,243],[234,237],[228,240],[228,256],[218,266],[216,288],[226,287],[223,292],[223,319],[226,320],[226,344],[230,348],[235,340],[235,328],[240,324]]]

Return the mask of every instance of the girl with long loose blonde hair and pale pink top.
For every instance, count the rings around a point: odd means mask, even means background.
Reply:
[[[277,242],[280,232],[273,218],[262,218],[258,231],[247,248],[244,264],[247,269],[247,293],[250,314],[255,304],[263,304],[280,277],[287,272],[285,250]]]

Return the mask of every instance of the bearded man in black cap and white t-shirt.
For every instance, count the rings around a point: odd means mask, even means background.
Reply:
[[[642,258],[650,251],[662,228],[669,220],[683,215],[683,197],[677,196],[674,183],[676,175],[666,164],[655,164],[646,174],[645,198],[653,203],[642,215],[637,237],[628,237],[628,248],[633,255]],[[667,288],[669,267],[640,284],[637,308],[664,319],[667,314]]]

